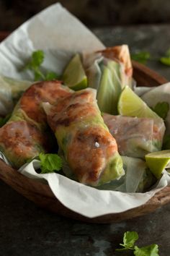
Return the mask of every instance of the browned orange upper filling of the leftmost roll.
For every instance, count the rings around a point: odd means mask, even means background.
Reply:
[[[69,95],[70,92],[61,86],[60,81],[38,82],[32,85],[22,95],[20,107],[30,117],[39,123],[46,121],[42,102],[55,103],[56,99]]]

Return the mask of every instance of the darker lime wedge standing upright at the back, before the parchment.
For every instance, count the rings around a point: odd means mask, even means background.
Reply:
[[[87,88],[87,77],[81,64],[79,54],[73,56],[63,72],[63,82],[72,90],[82,90]]]

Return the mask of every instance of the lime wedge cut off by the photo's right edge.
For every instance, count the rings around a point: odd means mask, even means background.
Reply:
[[[162,171],[168,166],[170,161],[170,150],[162,150],[146,155],[146,163],[151,172],[160,178]]]

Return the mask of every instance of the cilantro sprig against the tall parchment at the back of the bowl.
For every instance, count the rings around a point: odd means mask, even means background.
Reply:
[[[47,71],[45,74],[42,72],[42,63],[45,59],[45,54],[42,50],[37,50],[32,52],[32,56],[30,61],[27,63],[27,65],[24,67],[24,69],[30,69],[32,72],[34,72],[34,80],[56,80],[59,78],[58,74],[52,71]]]

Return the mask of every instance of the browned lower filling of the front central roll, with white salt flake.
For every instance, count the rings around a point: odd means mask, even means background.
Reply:
[[[89,127],[73,137],[68,147],[69,164],[80,182],[95,183],[115,152],[117,143],[106,129]]]

